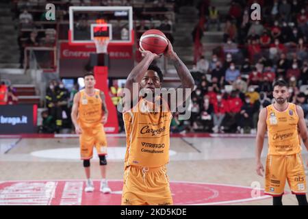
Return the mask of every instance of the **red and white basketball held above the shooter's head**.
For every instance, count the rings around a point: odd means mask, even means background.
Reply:
[[[157,55],[162,55],[166,47],[168,47],[168,40],[162,31],[149,29],[142,34],[139,44],[143,51],[151,51]]]

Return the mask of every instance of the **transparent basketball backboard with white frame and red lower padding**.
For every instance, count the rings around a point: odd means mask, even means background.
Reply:
[[[105,21],[104,24],[97,22],[101,20]],[[72,6],[69,21],[68,42],[71,45],[94,44],[95,34],[107,34],[110,44],[133,44],[131,6]],[[104,31],[97,31],[99,27]]]

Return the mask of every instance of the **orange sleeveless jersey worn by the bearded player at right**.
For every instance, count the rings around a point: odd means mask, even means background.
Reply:
[[[274,105],[266,107],[268,116],[268,155],[294,155],[300,153],[298,114],[296,105],[288,103],[287,110],[280,112]]]

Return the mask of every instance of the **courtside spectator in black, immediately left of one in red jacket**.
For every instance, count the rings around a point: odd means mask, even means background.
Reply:
[[[201,123],[203,125],[203,131],[211,132],[213,128],[214,107],[209,101],[209,96],[204,96],[203,106],[201,107]]]

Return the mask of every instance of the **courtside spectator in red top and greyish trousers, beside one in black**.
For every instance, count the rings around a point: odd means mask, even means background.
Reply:
[[[229,112],[229,107],[227,101],[225,99],[222,99],[222,94],[217,94],[217,99],[213,102],[213,105],[214,105],[213,131],[214,133],[218,133],[218,131],[222,131],[221,130],[222,120],[224,119],[226,113]]]

